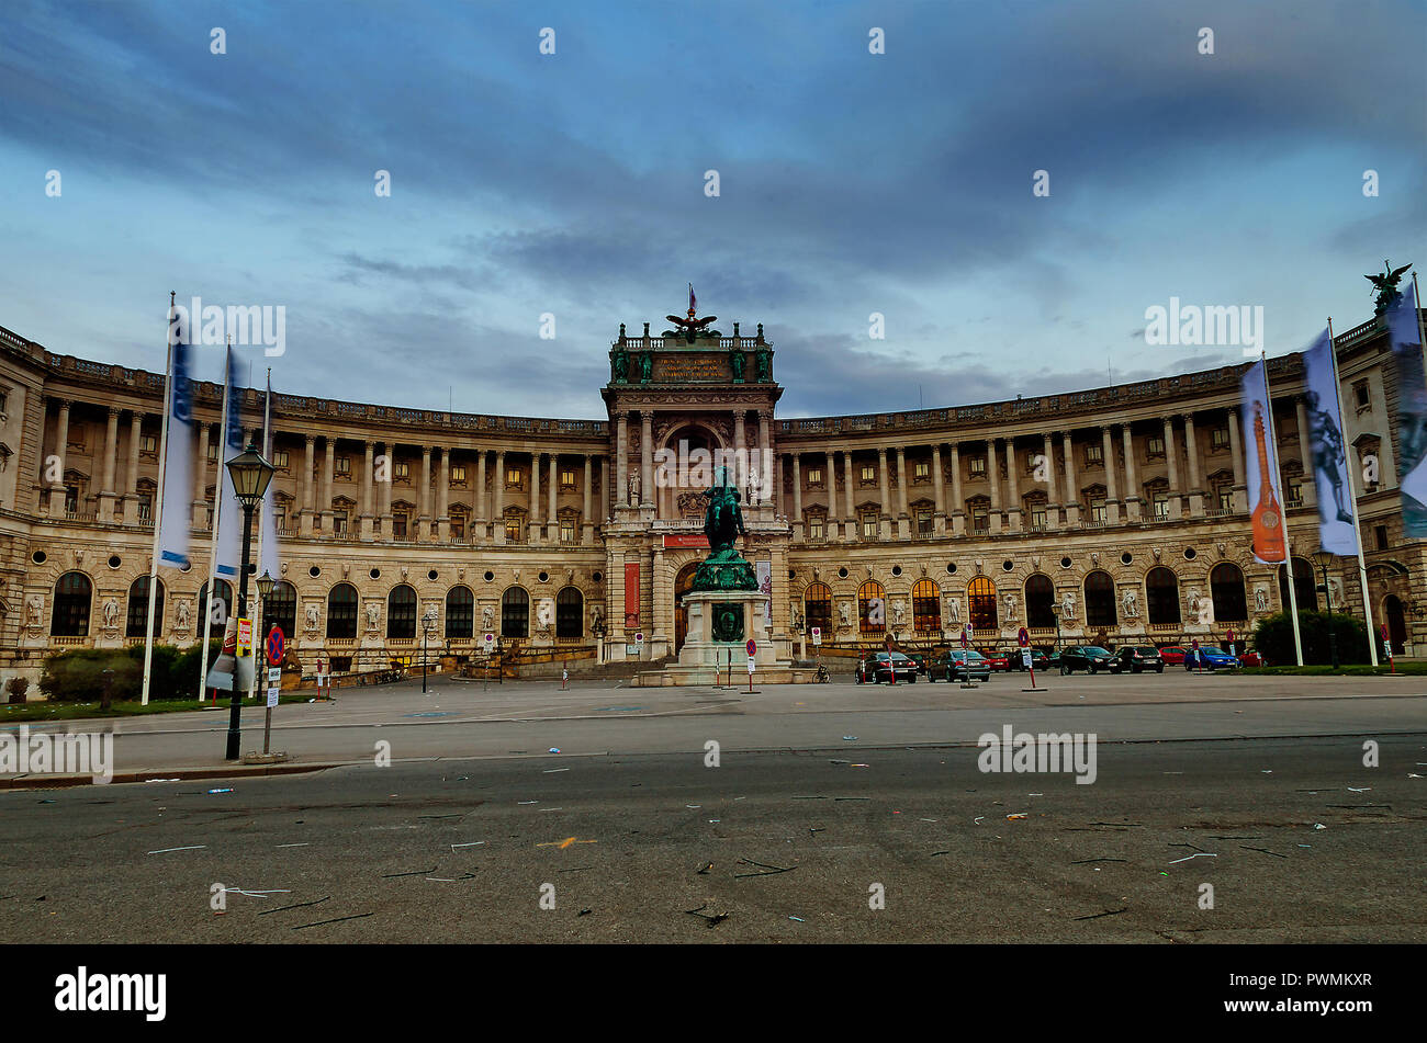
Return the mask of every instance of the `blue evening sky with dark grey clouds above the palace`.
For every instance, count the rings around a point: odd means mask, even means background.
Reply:
[[[783,417],[1209,369],[1243,348],[1147,309],[1263,308],[1279,355],[1427,262],[1424,38],[1424,0],[6,0],[0,326],[161,372],[170,291],[283,306],[275,390],[568,417],[691,282]]]

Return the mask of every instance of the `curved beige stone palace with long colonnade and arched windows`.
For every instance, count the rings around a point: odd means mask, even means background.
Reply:
[[[280,626],[308,673],[317,658],[384,667],[424,630],[457,660],[491,633],[517,660],[656,663],[684,641],[682,594],[706,554],[705,460],[743,490],[739,549],[771,591],[755,637],[782,657],[811,654],[813,627],[823,653],[932,647],[965,624],[980,645],[1020,627],[1045,645],[1217,643],[1284,606],[1286,570],[1250,553],[1244,366],[781,419],[762,325],[676,325],[621,326],[599,420],[273,395],[283,566],[260,633]],[[1374,621],[1411,654],[1427,640],[1427,554],[1401,530],[1391,349],[1371,321],[1336,351],[1350,459],[1376,477],[1359,484]],[[1297,600],[1317,607],[1301,356],[1270,359],[1269,375]],[[221,390],[194,385],[193,564],[160,570],[168,644],[200,640],[207,614]],[[263,392],[243,395],[244,425],[261,429]],[[36,677],[57,648],[143,641],[163,402],[163,373],[0,329],[6,677]],[[390,482],[374,480],[381,456]],[[1356,561],[1337,566],[1333,604],[1361,616]],[[217,594],[231,611],[233,590]]]

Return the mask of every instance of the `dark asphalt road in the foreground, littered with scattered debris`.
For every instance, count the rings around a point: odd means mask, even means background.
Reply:
[[[1093,785],[846,742],[9,791],[0,940],[1420,942],[1427,737],[1380,741],[1102,742]]]

